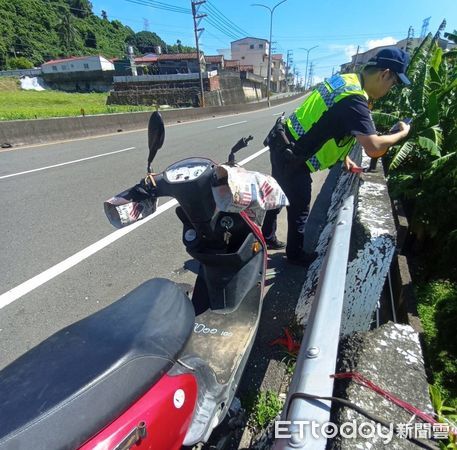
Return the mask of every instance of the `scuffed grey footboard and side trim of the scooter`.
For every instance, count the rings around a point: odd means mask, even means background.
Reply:
[[[184,444],[206,442],[213,429],[222,422],[233,401],[249,358],[260,321],[266,273],[266,246],[260,229],[241,214],[250,229],[249,247],[257,240],[256,253],[224,280],[203,269],[197,279],[192,302],[196,310],[195,327],[180,361],[194,369],[199,392],[197,406]],[[230,257],[230,255],[228,255]],[[211,263],[211,255],[205,264]],[[203,265],[203,264],[202,264]],[[213,284],[216,289],[208,289]],[[218,284],[221,284],[218,286]],[[235,308],[211,309],[211,295],[220,288],[222,299],[237,298]],[[176,366],[175,366],[176,368]],[[212,420],[209,421],[208,417]]]

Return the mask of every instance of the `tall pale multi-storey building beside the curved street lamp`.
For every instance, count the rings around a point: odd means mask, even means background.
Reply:
[[[230,45],[232,60],[238,60],[241,66],[252,66],[254,74],[267,77],[270,45],[266,39],[246,37]]]

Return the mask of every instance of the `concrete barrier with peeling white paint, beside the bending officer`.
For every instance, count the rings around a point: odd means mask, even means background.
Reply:
[[[360,164],[362,150],[356,146],[351,158]],[[363,157],[363,166],[370,159]],[[332,171],[341,171],[335,166]],[[395,252],[395,224],[390,199],[381,169],[372,173],[356,174],[341,172],[333,190],[328,208],[327,224],[316,246],[318,257],[310,265],[297,303],[296,316],[306,323],[321,275],[322,262],[330,242],[334,222],[342,201],[354,195],[356,200],[351,250],[347,266],[342,335],[370,329],[373,315],[381,297],[382,288]]]

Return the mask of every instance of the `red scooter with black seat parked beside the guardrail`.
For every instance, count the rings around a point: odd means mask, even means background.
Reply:
[[[148,172],[164,134],[154,113]],[[183,244],[200,265],[192,298],[152,279],[2,370],[0,450],[170,450],[208,440],[236,403],[267,261],[260,224],[217,207],[214,189],[226,185],[214,162],[189,158],[105,203],[123,226],[153,212],[158,197],[177,199]]]

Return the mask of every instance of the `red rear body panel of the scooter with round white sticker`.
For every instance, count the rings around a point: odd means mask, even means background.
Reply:
[[[165,375],[80,450],[180,449],[196,399],[197,381],[192,374]]]

